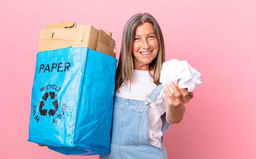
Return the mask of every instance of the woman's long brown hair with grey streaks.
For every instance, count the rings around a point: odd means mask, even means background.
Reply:
[[[132,16],[124,26],[120,56],[115,78],[115,91],[119,91],[119,88],[123,83],[126,87],[128,86],[128,82],[132,83],[134,68],[132,46],[135,39],[135,29],[137,26],[143,25],[145,22],[150,22],[153,25],[159,43],[159,52],[156,58],[150,63],[148,70],[150,76],[152,76],[154,79],[154,83],[156,85],[159,84],[162,63],[165,61],[164,38],[162,31],[153,16],[151,16],[149,13],[138,13]],[[151,73],[150,70],[153,70],[153,72]]]

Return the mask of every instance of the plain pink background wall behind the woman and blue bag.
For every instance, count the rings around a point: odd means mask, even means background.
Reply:
[[[47,23],[92,24],[112,32],[119,52],[125,22],[138,12],[158,20],[166,60],[187,60],[202,74],[184,120],[165,136],[169,158],[256,158],[255,0],[2,0],[0,158],[98,158],[27,141],[39,32]]]

